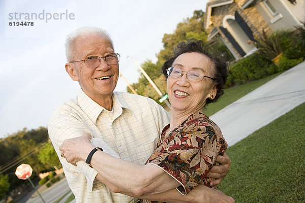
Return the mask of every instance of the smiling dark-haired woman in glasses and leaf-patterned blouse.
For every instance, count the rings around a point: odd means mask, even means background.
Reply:
[[[148,194],[159,199],[159,193],[172,188],[186,195],[198,184],[211,187],[212,180],[206,175],[226,149],[220,128],[203,109],[224,93],[227,63],[211,54],[202,41],[193,39],[176,46],[162,71],[171,103],[170,124],[162,130],[146,164],[136,165],[101,150],[90,162],[99,173],[98,179],[111,190],[140,197],[142,202],[154,202],[143,199]],[[85,161],[95,148],[89,139],[87,135],[65,141],[60,150],[67,161],[74,165]]]

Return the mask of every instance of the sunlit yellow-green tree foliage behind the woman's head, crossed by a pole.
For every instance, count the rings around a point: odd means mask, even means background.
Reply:
[[[163,63],[172,55],[173,48],[178,42],[187,41],[188,39],[195,38],[198,40],[206,40],[207,33],[203,26],[204,12],[201,10],[194,11],[193,17],[187,18],[177,24],[176,29],[173,33],[165,33],[162,39],[163,49],[156,54],[158,60],[153,63],[151,60],[144,61],[141,66],[147,75],[154,81],[157,87],[163,94],[167,93],[166,81],[161,73],[161,67]],[[140,75],[137,83],[133,83],[132,87],[137,91],[138,94],[147,96],[155,99],[159,103],[160,95],[149,84],[144,75]],[[128,92],[131,90],[128,88]]]

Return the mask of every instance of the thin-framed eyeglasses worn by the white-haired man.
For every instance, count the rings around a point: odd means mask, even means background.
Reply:
[[[114,64],[118,63],[119,57],[120,57],[120,55],[118,53],[111,53],[111,54],[107,54],[106,56],[102,56],[102,57],[88,56],[84,60],[70,61],[70,63],[84,61],[86,66],[94,69],[95,67],[100,65],[101,58],[103,58],[104,61],[106,61],[106,63],[108,65],[114,65]]]

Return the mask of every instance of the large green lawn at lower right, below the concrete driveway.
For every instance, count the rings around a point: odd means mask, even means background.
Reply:
[[[305,103],[227,149],[236,202],[305,202]]]

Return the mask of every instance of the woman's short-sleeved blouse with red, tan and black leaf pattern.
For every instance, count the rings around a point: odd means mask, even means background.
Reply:
[[[155,164],[174,177],[181,184],[177,190],[182,195],[200,182],[211,187],[212,179],[206,175],[213,165],[218,165],[216,157],[223,155],[226,148],[220,128],[203,111],[192,114],[165,134],[168,128],[169,124],[163,128],[157,148],[146,164]]]

